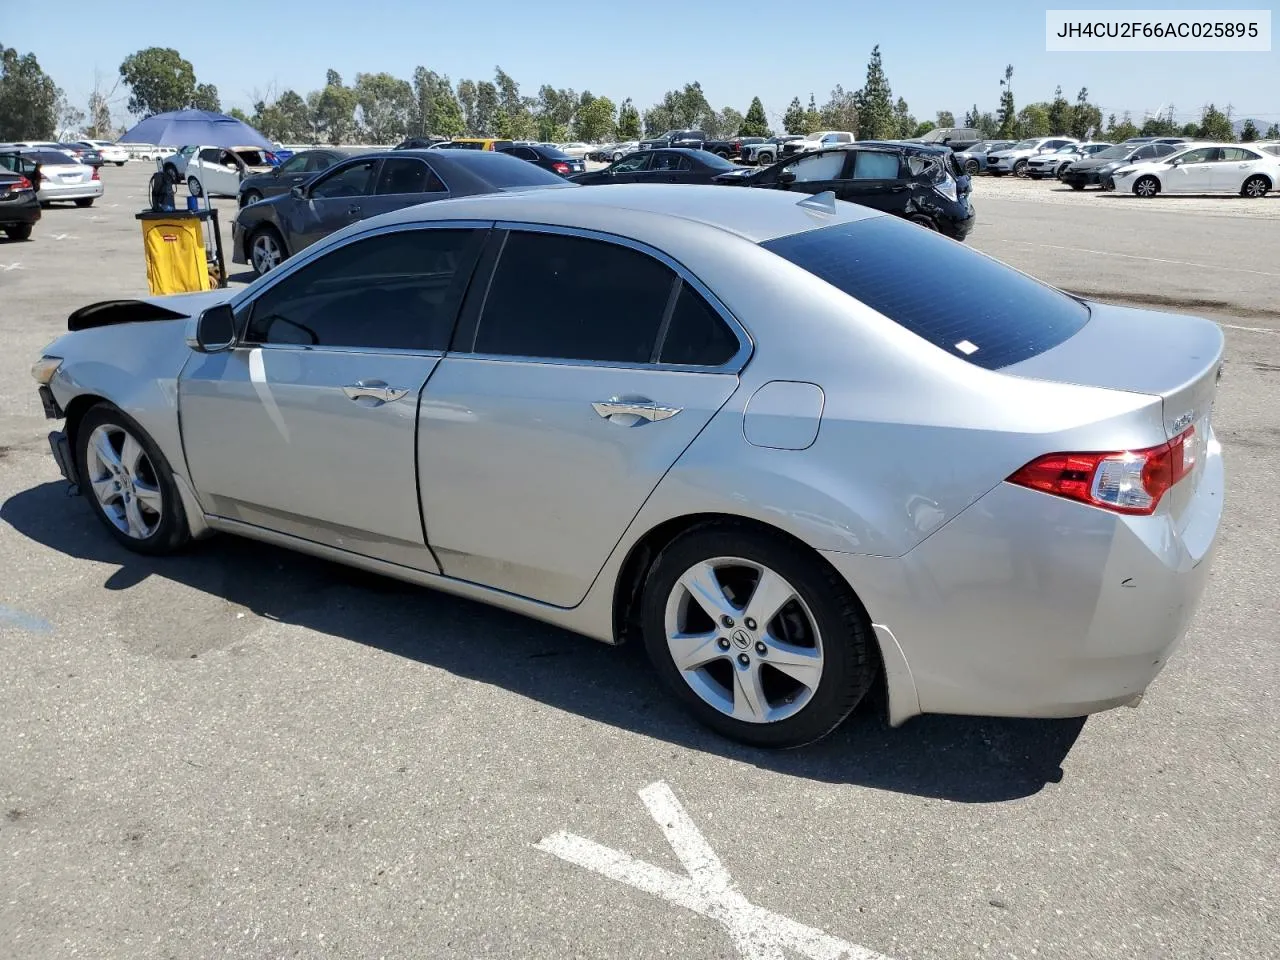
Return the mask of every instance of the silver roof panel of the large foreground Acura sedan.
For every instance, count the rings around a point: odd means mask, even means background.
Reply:
[[[799,197],[799,200],[797,200]],[[856,204],[815,211],[814,198],[791,191],[710,184],[616,183],[595,187],[485,193],[406,207],[381,223],[430,220],[518,220],[591,229],[608,223],[636,239],[657,238],[673,219],[730,233],[753,243],[788,237],[837,223],[884,216]],[[809,205],[801,206],[808,201]]]

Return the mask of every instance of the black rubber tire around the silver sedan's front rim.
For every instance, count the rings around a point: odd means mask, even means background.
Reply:
[[[138,538],[120,530],[115,522],[108,517],[106,509],[99,502],[92,489],[92,474],[90,472],[88,444],[93,431],[100,426],[116,428],[131,434],[142,447],[142,452],[150,461],[150,468],[141,471],[147,475],[148,483],[154,483],[160,490],[161,507],[159,522],[150,535]],[[76,472],[79,477],[81,494],[88,500],[90,509],[106,527],[115,540],[133,550],[148,556],[173,553],[180,549],[191,539],[191,530],[187,524],[187,512],[182,506],[182,497],[178,485],[173,479],[173,467],[147,435],[138,422],[111,403],[99,403],[91,407],[79,421],[76,430]]]

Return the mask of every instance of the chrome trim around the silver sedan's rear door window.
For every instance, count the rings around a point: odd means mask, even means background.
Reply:
[[[672,270],[681,280],[687,285],[692,287],[701,297],[710,305],[712,310],[723,320],[733,335],[737,338],[739,348],[726,362],[718,366],[703,366],[698,364],[655,364],[655,362],[630,362],[620,360],[576,360],[571,357],[526,357],[515,356],[511,353],[481,353],[477,351],[452,351],[451,357],[462,357],[467,360],[493,360],[493,361],[507,361],[515,364],[547,364],[553,366],[596,366],[596,367],[611,367],[621,370],[669,370],[673,372],[696,372],[696,374],[739,374],[746,366],[748,361],[751,358],[751,353],[755,351],[755,340],[751,339],[750,332],[739,321],[736,316],[730,311],[728,307],[717,297],[712,289],[703,283],[689,268],[681,264],[678,260],[668,253],[652,247],[643,241],[634,239],[631,237],[623,237],[617,233],[608,233],[605,230],[595,230],[584,227],[564,227],[561,224],[544,224],[544,223],[525,223],[521,220],[498,220],[494,224],[497,230],[520,230],[524,233],[550,233],[562,237],[579,237],[581,239],[593,239],[603,243],[613,243],[620,247],[627,247],[637,253],[644,253],[646,256],[654,257],[658,262],[663,264],[667,269]],[[498,266],[502,265],[502,257],[494,265],[494,270],[489,279],[492,280],[497,275]],[[270,275],[270,274],[269,274]],[[485,292],[485,301],[488,301],[488,291]],[[480,326],[484,324],[484,305],[480,307],[480,320],[476,324],[476,333],[479,334]]]

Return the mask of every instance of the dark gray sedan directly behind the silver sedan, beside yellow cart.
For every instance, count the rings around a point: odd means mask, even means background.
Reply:
[[[232,221],[232,261],[259,276],[357,220],[416,204],[536,187],[563,177],[488,150],[385,150],[334,164],[288,193],[243,207]]]

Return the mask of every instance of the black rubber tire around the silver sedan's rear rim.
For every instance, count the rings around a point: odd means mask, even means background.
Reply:
[[[666,632],[668,598],[687,570],[717,557],[760,563],[782,576],[823,637],[818,686],[809,701],[785,719],[751,723],[722,713],[694,692],[672,660]],[[654,558],[641,593],[640,627],[649,659],[676,699],[703,724],[751,746],[785,749],[824,737],[861,703],[879,669],[870,620],[849,584],[803,545],[735,521],[692,527]]]

